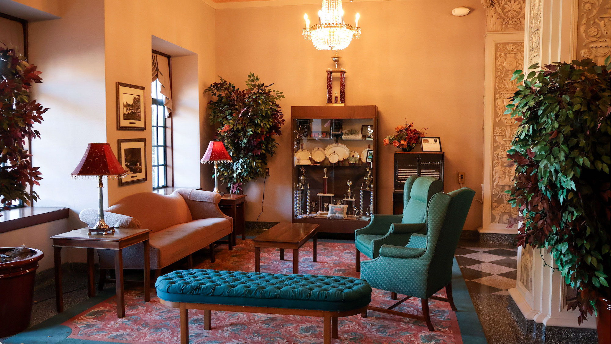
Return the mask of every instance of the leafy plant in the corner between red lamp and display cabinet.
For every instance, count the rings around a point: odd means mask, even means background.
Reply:
[[[254,73],[246,79],[246,89],[221,78],[204,93],[214,98],[208,102],[210,120],[218,125],[218,139],[223,141],[232,163],[218,166],[218,177],[230,186],[230,192],[240,192],[244,183],[265,175],[268,157],[276,152],[275,136],[280,136],[284,123],[277,101],[282,92],[269,89]]]

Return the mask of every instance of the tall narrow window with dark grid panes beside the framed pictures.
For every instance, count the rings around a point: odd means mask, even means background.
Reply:
[[[160,189],[167,187],[167,125],[166,107],[159,79],[155,79],[151,84],[151,97],[153,98],[151,101],[153,189]]]

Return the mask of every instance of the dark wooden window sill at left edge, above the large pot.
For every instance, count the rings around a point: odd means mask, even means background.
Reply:
[[[45,222],[67,219],[68,208],[24,207],[2,210],[0,214],[0,233],[43,224]]]

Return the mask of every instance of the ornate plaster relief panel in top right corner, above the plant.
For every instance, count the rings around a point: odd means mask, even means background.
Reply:
[[[577,58],[599,65],[611,54],[611,1],[579,0]]]

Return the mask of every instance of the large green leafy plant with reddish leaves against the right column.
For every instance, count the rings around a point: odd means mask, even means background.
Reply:
[[[506,114],[519,122],[508,150],[516,166],[511,205],[520,216],[518,243],[545,248],[577,291],[569,309],[579,324],[609,295],[610,84],[591,59],[555,62],[513,79],[524,83]]]

